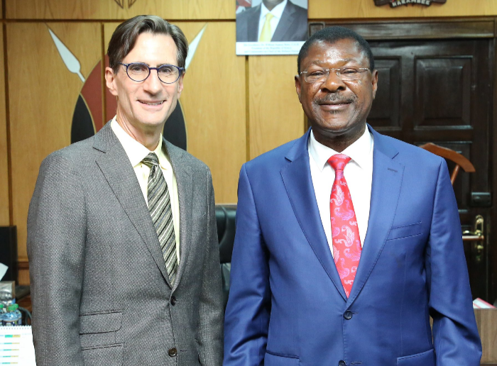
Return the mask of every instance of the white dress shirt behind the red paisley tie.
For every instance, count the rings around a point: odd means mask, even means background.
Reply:
[[[327,161],[329,157],[338,153],[333,149],[318,143],[312,131],[310,133],[308,150],[312,184],[314,185],[316,194],[317,207],[320,210],[324,233],[326,234],[329,249],[332,251],[333,255],[332,220],[329,212],[329,197],[332,193],[335,171]],[[342,154],[351,157],[351,160],[345,166],[344,177],[352,196],[354,211],[356,211],[361,245],[364,245],[364,238],[366,238],[366,231],[368,231],[371,182],[373,179],[373,135],[369,133],[367,127],[364,134],[356,140],[356,142],[342,151]]]

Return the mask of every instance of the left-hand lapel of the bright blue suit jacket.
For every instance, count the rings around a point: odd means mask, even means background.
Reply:
[[[322,228],[320,212],[317,208],[316,194],[310,174],[309,154],[307,153],[309,135],[310,130],[296,141],[286,155],[290,164],[283,167],[280,173],[300,228],[302,228],[328,277],[346,300],[344,287],[340,281],[337,267],[334,265],[333,256]]]

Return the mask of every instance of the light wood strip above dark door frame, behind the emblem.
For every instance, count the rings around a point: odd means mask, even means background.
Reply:
[[[15,1],[15,0],[9,0]],[[424,18],[435,16],[495,16],[497,2],[449,0],[431,6],[375,6],[373,0],[309,0],[310,19]]]

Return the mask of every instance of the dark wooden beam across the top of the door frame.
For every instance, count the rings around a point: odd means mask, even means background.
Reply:
[[[346,26],[366,40],[413,40],[451,38],[493,38],[493,18],[483,19],[410,19],[389,21],[312,21],[310,34],[324,26]]]

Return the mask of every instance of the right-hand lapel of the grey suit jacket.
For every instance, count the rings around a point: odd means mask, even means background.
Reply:
[[[193,180],[190,165],[182,163],[184,151],[176,148],[166,140],[163,140],[163,143],[165,143],[171,165],[173,165],[180,204],[180,264],[173,286],[174,290],[178,287],[182,274],[185,272],[187,258],[191,250],[192,231],[190,228],[192,227]]]

